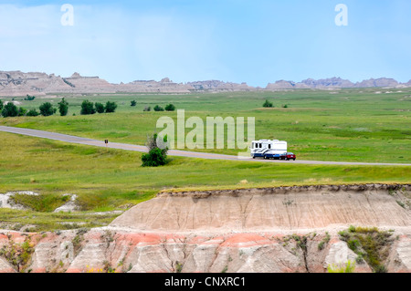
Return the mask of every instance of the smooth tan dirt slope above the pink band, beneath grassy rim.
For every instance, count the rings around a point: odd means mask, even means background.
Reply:
[[[297,230],[350,223],[409,226],[409,192],[409,186],[348,185],[161,193],[111,226],[182,232]]]

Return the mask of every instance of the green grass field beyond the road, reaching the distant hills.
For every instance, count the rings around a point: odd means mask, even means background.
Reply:
[[[382,94],[375,94],[381,91]],[[387,94],[385,92],[391,92]],[[145,106],[173,103],[185,109],[185,119],[206,117],[255,117],[257,139],[289,142],[289,150],[301,160],[411,162],[411,88],[290,90],[279,92],[226,92],[195,94],[107,94],[93,96],[59,95],[58,98],[23,102],[26,109],[42,102],[57,104],[66,97],[67,117],[0,119],[0,124],[37,130],[50,130],[98,140],[144,144],[162,116],[176,112],[142,112]],[[119,108],[113,114],[79,116],[83,99],[93,102],[114,100]],[[137,100],[131,107],[130,101]],[[266,99],[275,108],[264,109]],[[287,104],[288,108],[282,108]],[[75,113],[77,116],[72,116]],[[189,129],[186,130],[186,134]],[[236,154],[237,150],[201,150]]]

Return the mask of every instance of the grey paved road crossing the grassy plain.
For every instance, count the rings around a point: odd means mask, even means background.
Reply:
[[[5,127],[0,126],[0,131],[11,132],[21,135],[28,135],[32,137],[48,139],[48,140],[60,140],[65,142],[71,143],[79,143],[79,144],[86,144],[90,146],[97,146],[97,147],[106,147],[106,144],[103,140],[91,140],[86,138],[80,138],[72,135],[49,132],[44,130],[28,130],[28,129],[20,129],[20,128],[13,128],[13,127]],[[126,143],[118,143],[118,142],[109,142],[108,145],[111,149],[120,149],[126,151],[142,151],[147,152],[147,148],[145,146],[139,145],[132,145]],[[383,163],[383,162],[346,162],[346,161],[279,161],[279,160],[263,160],[263,159],[256,159],[253,160],[249,157],[247,158],[238,158],[237,156],[225,155],[225,154],[216,154],[216,153],[207,153],[207,152],[196,152],[196,151],[176,151],[170,150],[168,151],[170,156],[179,156],[179,157],[188,157],[188,158],[199,158],[199,159],[207,159],[207,160],[232,160],[232,161],[264,161],[264,162],[279,162],[279,163],[297,163],[297,164],[315,164],[315,165],[376,165],[376,166],[411,166],[409,163]]]

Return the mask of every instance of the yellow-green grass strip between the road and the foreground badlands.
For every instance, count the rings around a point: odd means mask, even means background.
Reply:
[[[16,200],[31,211],[0,209],[0,222],[37,224],[37,230],[72,227],[61,222],[82,222],[87,227],[105,225],[115,215],[94,217],[90,212],[130,208],[161,191],[406,183],[411,179],[408,166],[301,166],[169,157],[171,161],[166,166],[147,168],[141,166],[142,153],[135,151],[106,150],[5,132],[0,132],[0,140],[0,193],[41,194],[17,196]],[[66,202],[65,193],[79,196],[83,213],[52,213]]]

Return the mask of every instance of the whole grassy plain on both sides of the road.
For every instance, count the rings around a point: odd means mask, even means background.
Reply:
[[[389,93],[388,93],[389,92]],[[22,102],[26,109],[63,96]],[[67,117],[0,119],[1,125],[49,130],[99,140],[144,144],[159,117],[175,112],[142,112],[146,106],[174,103],[186,119],[198,116],[255,117],[258,139],[289,141],[298,159],[319,161],[411,162],[411,88],[300,90],[197,94],[68,96]],[[114,100],[113,114],[80,116],[83,99]],[[137,101],[131,107],[131,100]],[[265,99],[275,105],[261,108]],[[3,99],[11,100],[10,99]],[[287,104],[288,108],[282,108]],[[73,116],[73,113],[76,116]],[[186,132],[188,132],[187,130]],[[0,193],[34,191],[38,197],[16,197],[31,210],[0,209],[0,229],[36,225],[54,230],[110,223],[117,214],[163,190],[206,190],[302,184],[408,183],[409,166],[331,166],[247,161],[209,161],[171,157],[164,167],[142,168],[141,153],[41,140],[0,132]],[[234,150],[203,150],[235,154]],[[79,196],[81,213],[52,213]],[[64,224],[61,224],[64,223]]]

